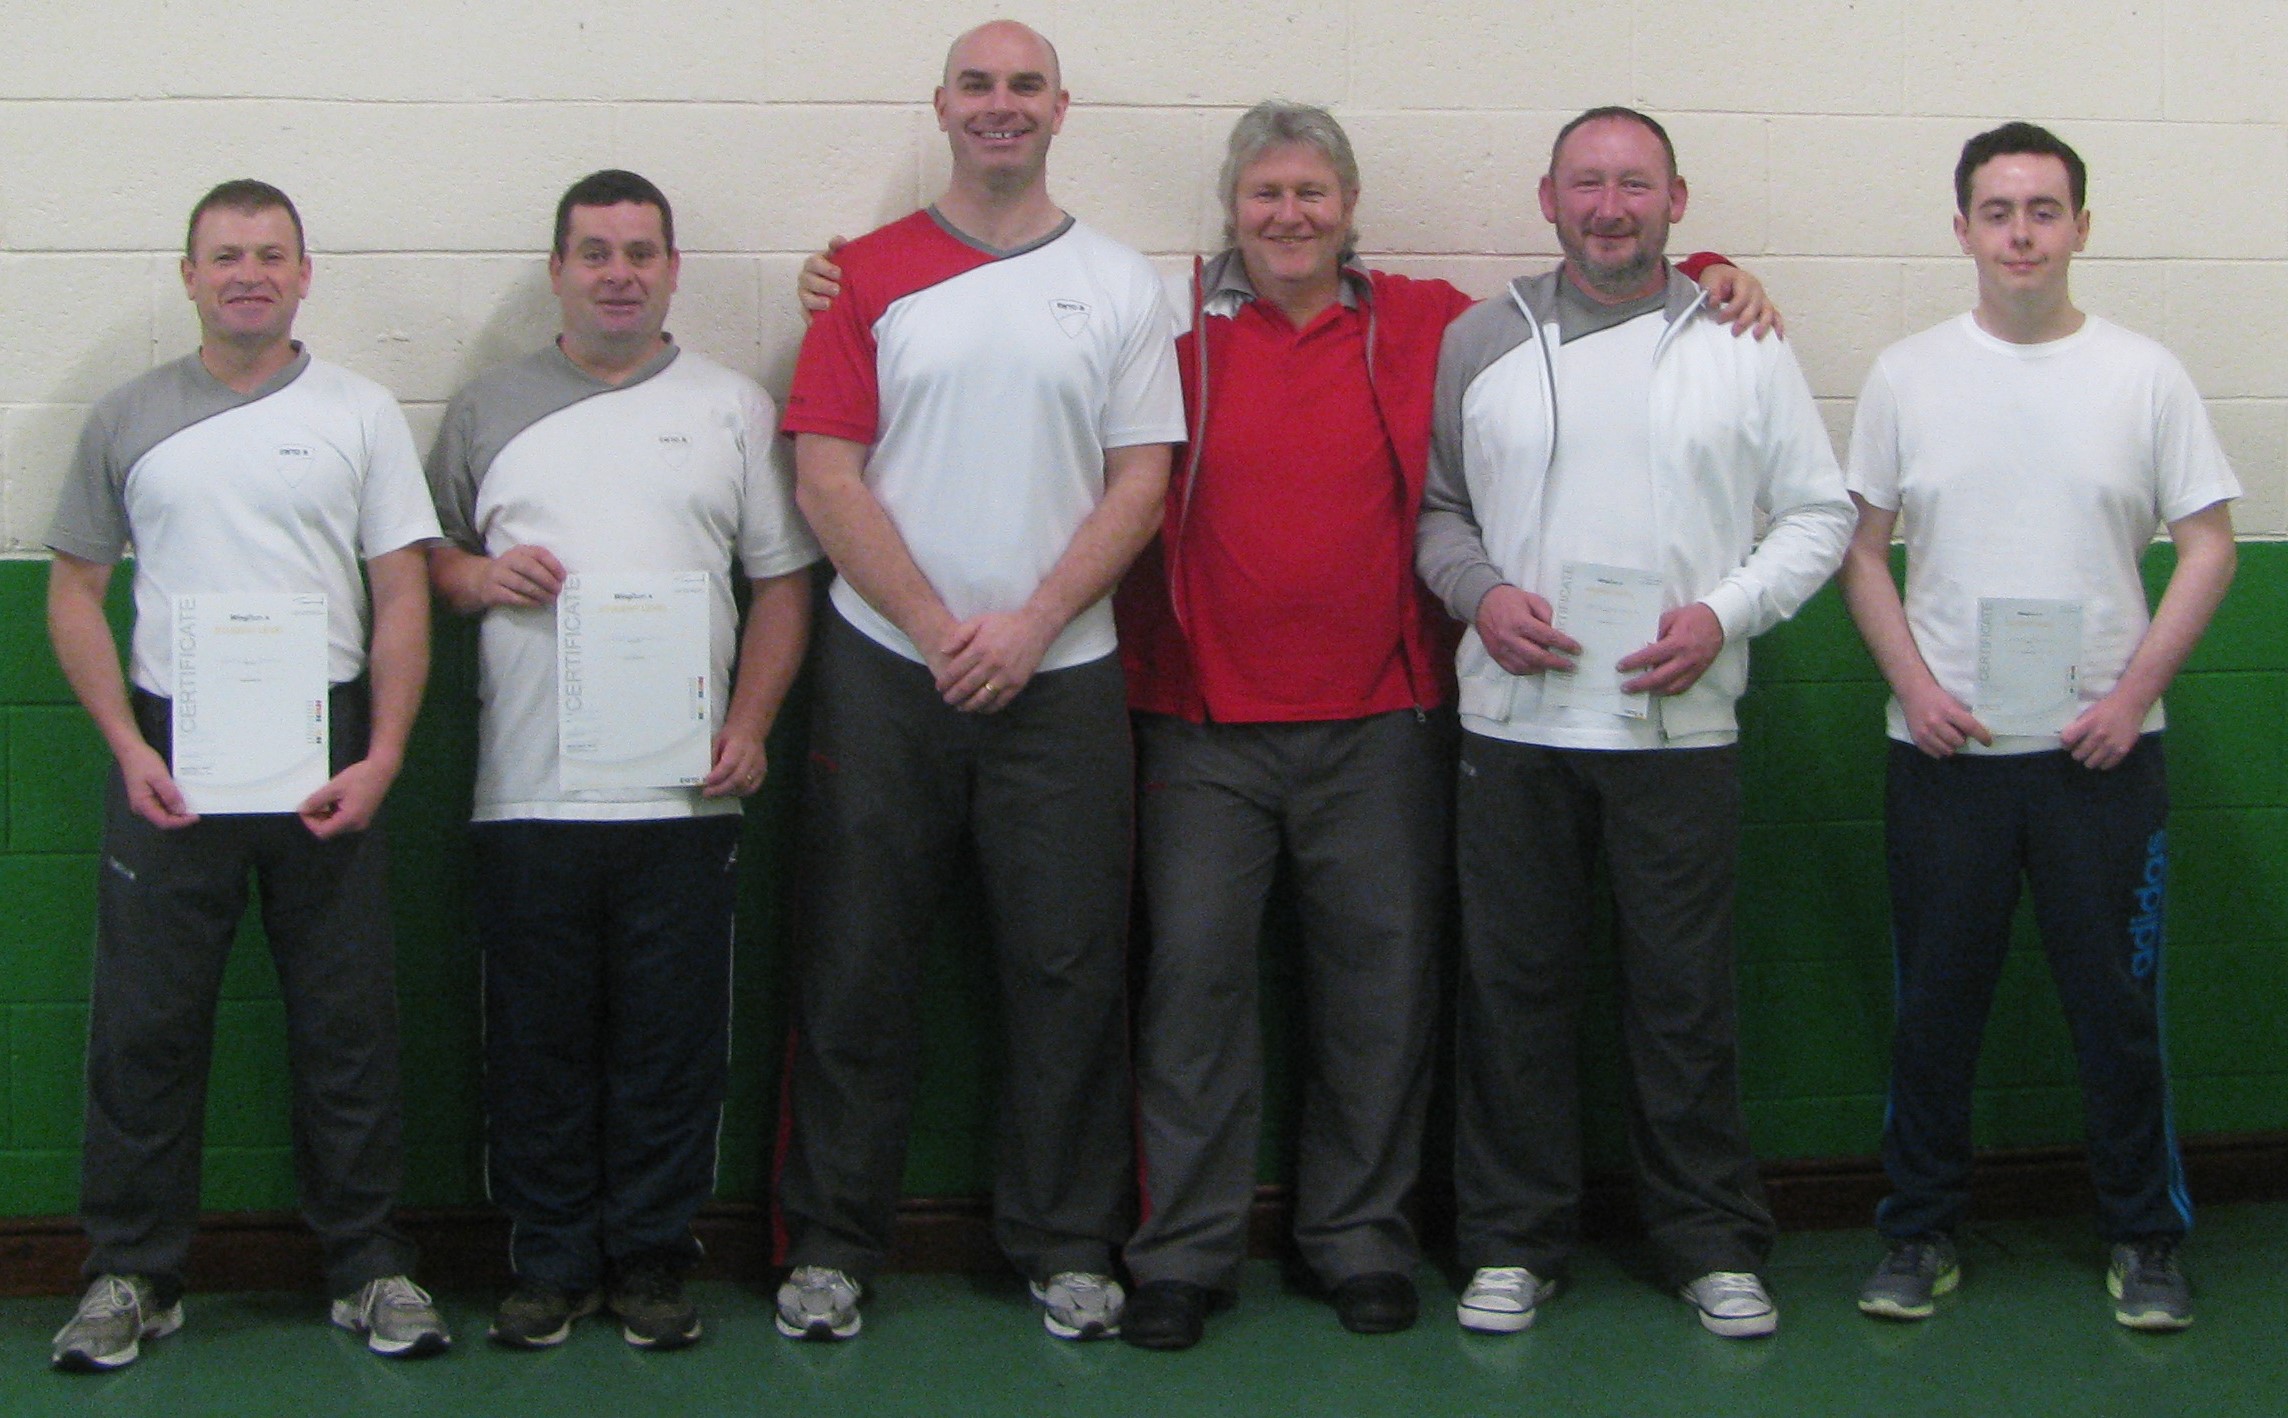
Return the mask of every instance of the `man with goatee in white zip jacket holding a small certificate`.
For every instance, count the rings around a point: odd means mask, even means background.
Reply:
[[[1732,338],[1663,261],[1686,188],[1659,124],[1581,114],[1540,201],[1565,263],[1446,332],[1416,531],[1423,581],[1471,627],[1460,1320],[1526,1329],[1579,1235],[1574,1036],[1602,855],[1654,1249],[1707,1329],[1764,1336],[1778,1313],[1755,1272],[1773,1228],[1732,997],[1732,702],[1748,638],[1835,569],[1851,503],[1787,343]]]

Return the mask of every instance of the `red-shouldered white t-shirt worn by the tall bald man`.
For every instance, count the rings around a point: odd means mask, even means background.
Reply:
[[[867,487],[947,611],[1020,608],[1103,499],[1105,448],[1185,437],[1160,277],[1073,220],[993,252],[929,208],[837,261],[842,297],[803,338],[780,428],[872,446]],[[922,659],[840,576],[833,604],[883,647]],[[1112,650],[1103,599],[1041,668]]]

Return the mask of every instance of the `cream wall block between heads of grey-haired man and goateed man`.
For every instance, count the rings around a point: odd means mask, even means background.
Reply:
[[[1565,117],[1345,114],[1361,167],[1377,174],[1361,201],[1368,240],[1416,254],[1554,254],[1556,233],[1542,220],[1535,185]]]

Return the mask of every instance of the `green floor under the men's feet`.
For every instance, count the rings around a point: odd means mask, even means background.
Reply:
[[[551,1354],[483,1343],[483,1294],[444,1297],[462,1347],[384,1363],[318,1322],[316,1297],[197,1294],[183,1333],[130,1370],[46,1368],[59,1299],[0,1301],[0,1413],[1592,1413],[1785,1416],[2073,1413],[2190,1418],[2288,1413],[2288,1205],[2212,1208],[2190,1249],[2199,1322],[2180,1336],[2119,1329],[2082,1221],[1981,1226],[1963,1237],[1963,1290],[1924,1324],[1851,1308],[1874,1260],[1865,1233],[1780,1242],[1773,1340],[1702,1333],[1679,1301],[1592,1253],[1522,1336],[1455,1329],[1444,1276],[1423,1269],[1425,1322],[1387,1338],[1252,1265],[1236,1311],[1187,1354],[1041,1333],[1014,1281],[888,1276],[847,1345],[771,1331],[766,1294],[698,1285],[707,1340],[643,1356],[588,1322]]]

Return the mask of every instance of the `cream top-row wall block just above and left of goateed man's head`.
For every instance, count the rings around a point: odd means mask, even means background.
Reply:
[[[1560,110],[1558,121],[1599,103],[1638,103],[1643,91],[1631,78],[1629,30],[1629,21],[1599,0],[1354,5],[1350,103],[1380,110],[1535,107]],[[1549,130],[1556,133],[1556,124]]]

